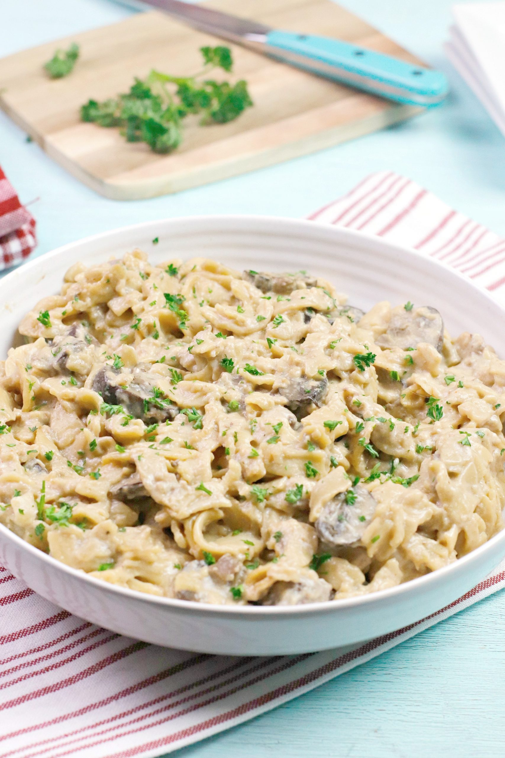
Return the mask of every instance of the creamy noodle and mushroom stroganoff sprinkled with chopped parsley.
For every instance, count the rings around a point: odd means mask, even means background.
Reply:
[[[357,282],[359,289],[359,282]],[[139,251],[74,265],[0,379],[0,519],[201,603],[368,594],[502,528],[505,362],[424,304]]]

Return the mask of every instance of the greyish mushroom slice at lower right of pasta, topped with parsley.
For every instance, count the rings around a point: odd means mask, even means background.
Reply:
[[[329,545],[357,545],[376,507],[376,499],[357,484],[326,503],[316,521],[316,532]]]

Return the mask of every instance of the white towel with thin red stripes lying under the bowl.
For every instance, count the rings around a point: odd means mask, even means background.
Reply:
[[[503,241],[391,173],[368,177],[312,218],[443,257],[491,290],[505,277]],[[505,561],[460,600],[384,637],[346,650],[239,659],[120,637],[52,606],[0,567],[0,758],[169,753],[307,692],[501,587]]]

